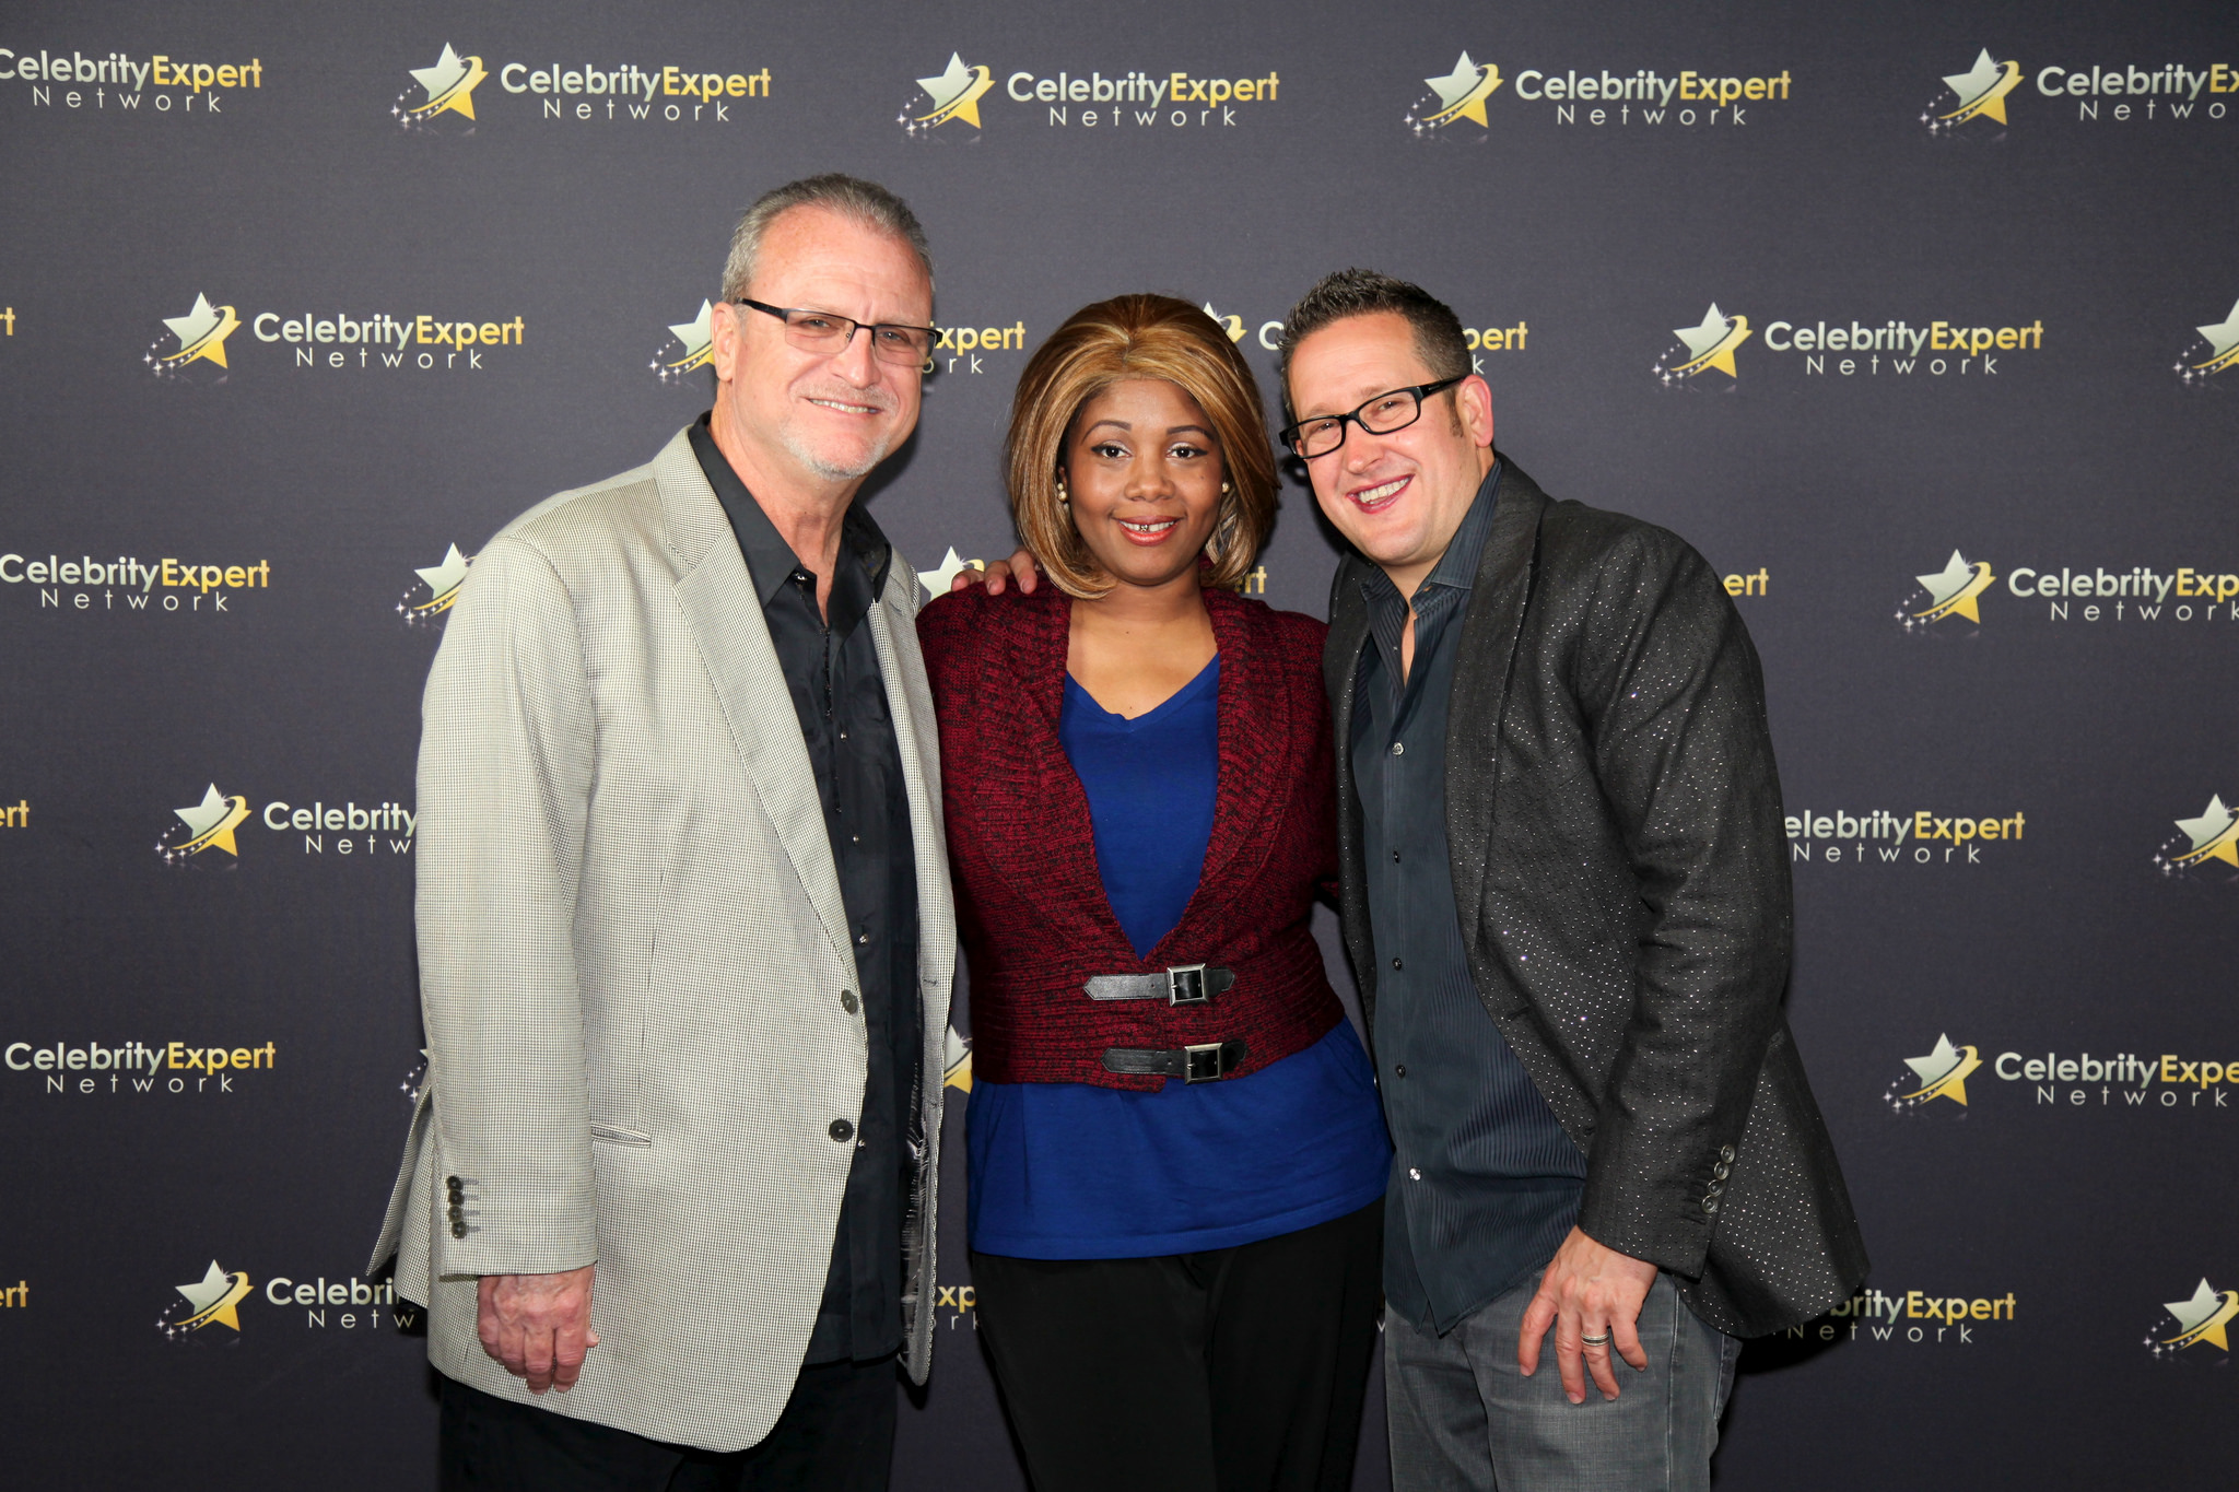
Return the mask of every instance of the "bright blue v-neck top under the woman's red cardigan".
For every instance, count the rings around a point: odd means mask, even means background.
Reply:
[[[1142,957],[1182,919],[1205,868],[1220,658],[1133,720],[1068,678],[1057,734],[1088,796],[1104,895]],[[1225,1083],[978,1083],[967,1150],[972,1248],[1023,1259],[1254,1244],[1368,1206],[1390,1163],[1350,1022]]]

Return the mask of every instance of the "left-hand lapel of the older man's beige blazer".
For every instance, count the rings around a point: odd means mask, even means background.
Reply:
[[[661,488],[665,539],[683,570],[676,604],[699,642],[708,680],[739,747],[739,763],[777,825],[777,839],[824,935],[853,969],[840,872],[824,830],[824,808],[817,803],[815,767],[808,765],[808,745],[793,714],[793,693],[777,667],[777,649],[746,557],[683,432],[654,456],[654,481]]]

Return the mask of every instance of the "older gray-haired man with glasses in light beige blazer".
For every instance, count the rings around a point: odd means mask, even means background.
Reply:
[[[428,1080],[390,1217],[443,1485],[884,1488],[931,1356],[956,962],[916,573],[855,506],[931,264],[766,195],[716,403],[475,561],[428,680]]]

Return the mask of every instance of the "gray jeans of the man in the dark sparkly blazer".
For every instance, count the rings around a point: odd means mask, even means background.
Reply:
[[[1648,1369],[1610,1356],[1617,1398],[1563,1396],[1554,1333],[1531,1378],[1516,1331],[1538,1277],[1437,1335],[1384,1311],[1393,1492],[1706,1492],[1742,1342],[1702,1324],[1659,1275],[1641,1304]]]

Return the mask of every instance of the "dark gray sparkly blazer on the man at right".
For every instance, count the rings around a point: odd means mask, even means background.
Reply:
[[[1780,1002],[1789,863],[1758,653],[1675,535],[1502,465],[1446,729],[1453,899],[1478,998],[1587,1154],[1578,1226],[1733,1335],[1811,1320],[1865,1241]],[[1375,1029],[1348,555],[1323,673],[1341,913]]]

